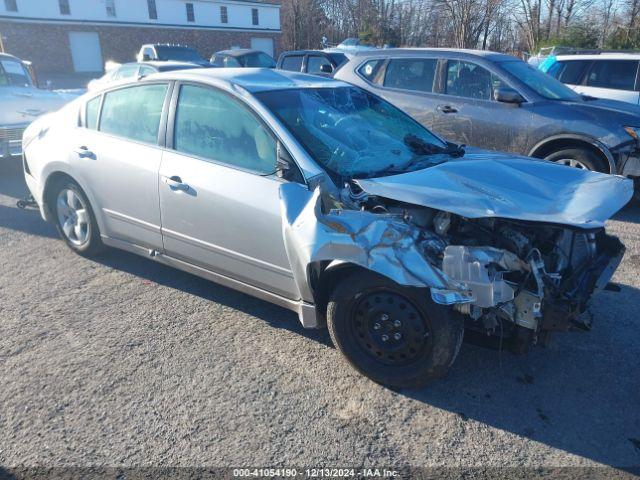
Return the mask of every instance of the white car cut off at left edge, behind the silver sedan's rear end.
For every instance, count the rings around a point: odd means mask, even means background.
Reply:
[[[0,160],[22,154],[22,134],[40,115],[70,97],[35,86],[25,62],[0,53]]]

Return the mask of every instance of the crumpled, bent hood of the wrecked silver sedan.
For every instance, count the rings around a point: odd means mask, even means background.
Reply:
[[[581,228],[603,226],[633,196],[633,182],[620,176],[484,151],[357,183],[370,195],[467,218],[501,217]]]

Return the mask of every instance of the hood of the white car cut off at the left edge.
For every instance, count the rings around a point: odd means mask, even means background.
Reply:
[[[44,113],[58,110],[69,98],[33,87],[0,87],[0,126],[31,123]]]

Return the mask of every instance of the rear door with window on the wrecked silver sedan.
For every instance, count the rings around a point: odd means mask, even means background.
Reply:
[[[124,87],[87,103],[70,161],[104,221],[102,234],[161,249],[159,138],[168,83]],[[100,113],[98,113],[100,112]],[[98,212],[96,212],[98,213]]]

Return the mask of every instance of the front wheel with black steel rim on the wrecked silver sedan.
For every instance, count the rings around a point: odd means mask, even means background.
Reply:
[[[356,271],[333,290],[327,326],[334,345],[360,373],[394,387],[420,387],[453,364],[462,317],[437,305],[424,288],[400,286]]]

